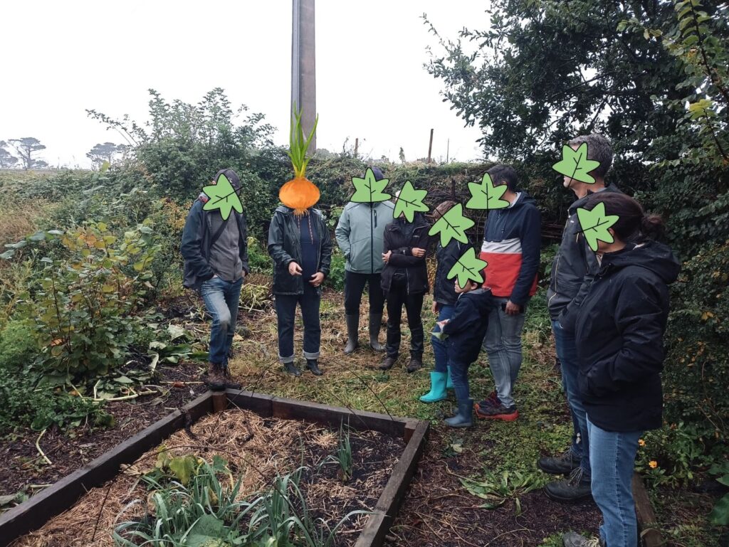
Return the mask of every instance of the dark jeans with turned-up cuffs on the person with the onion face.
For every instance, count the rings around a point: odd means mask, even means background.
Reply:
[[[319,302],[321,291],[304,283],[304,294],[276,294],[276,316],[278,318],[278,361],[294,362],[294,321],[296,304],[301,307],[304,322],[304,357],[319,358],[321,325],[319,324]]]

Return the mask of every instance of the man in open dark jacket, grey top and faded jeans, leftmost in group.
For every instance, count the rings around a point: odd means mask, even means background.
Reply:
[[[233,169],[218,171],[213,184],[217,184],[221,175],[230,181],[233,189],[240,188],[241,179]],[[184,286],[200,293],[213,318],[208,386],[222,390],[226,377],[230,376],[228,355],[235,334],[243,278],[248,275],[248,235],[245,216],[233,210],[223,220],[220,210],[203,209],[207,201],[206,194],[200,193],[192,204],[182,230],[180,250],[184,256]]]

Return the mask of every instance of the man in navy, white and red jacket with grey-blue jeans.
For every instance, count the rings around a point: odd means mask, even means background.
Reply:
[[[507,186],[502,199],[510,205],[489,211],[483,230],[483,286],[491,289],[493,304],[483,349],[496,389],[476,404],[476,416],[510,421],[519,415],[512,390],[521,368],[526,304],[537,292],[542,217],[534,199],[518,190],[513,168],[495,165],[488,174],[494,186]]]

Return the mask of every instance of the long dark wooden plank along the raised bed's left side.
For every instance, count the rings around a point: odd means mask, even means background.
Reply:
[[[198,420],[212,410],[211,393],[203,393],[183,409],[190,414],[193,422]],[[0,515],[0,547],[6,547],[21,535],[42,527],[53,516],[70,508],[87,490],[101,486],[117,476],[122,463],[133,463],[141,454],[160,444],[184,425],[184,413],[176,410],[63,477],[30,500],[3,513]]]

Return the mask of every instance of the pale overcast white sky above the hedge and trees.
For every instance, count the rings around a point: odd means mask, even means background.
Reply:
[[[475,160],[480,133],[443,103],[442,84],[423,68],[437,47],[421,20],[443,36],[485,28],[484,2],[472,0],[316,0],[317,146],[397,160]],[[222,87],[278,128],[286,144],[291,96],[291,0],[187,3],[161,0],[6,2],[0,50],[0,140],[39,138],[51,165],[90,165],[95,143],[122,139],[85,109],[147,119],[148,88],[197,103]],[[12,77],[10,77],[12,76]]]

